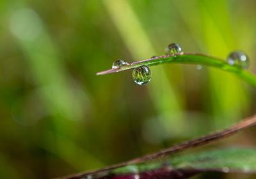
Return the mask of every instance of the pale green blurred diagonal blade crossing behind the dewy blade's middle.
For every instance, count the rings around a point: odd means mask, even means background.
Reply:
[[[129,1],[106,0],[104,4],[125,44],[129,48],[133,59],[148,58],[148,54],[157,54],[140,20],[132,10]],[[112,4],[115,4],[115,6],[112,6]],[[123,11],[125,13],[122,13]],[[163,68],[154,70],[154,80],[152,80],[148,87],[152,102],[158,113],[161,114],[161,118],[155,119],[156,124],[163,125],[164,131],[169,136],[181,135],[182,131],[186,129],[186,124],[182,117],[182,97],[180,97],[179,93],[175,92],[172,85],[168,82]],[[174,124],[180,127],[175,127]]]

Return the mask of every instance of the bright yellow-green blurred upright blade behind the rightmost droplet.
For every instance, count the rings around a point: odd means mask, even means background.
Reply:
[[[220,12],[212,13],[212,6],[219,7]],[[237,46],[230,18],[228,18],[227,2],[202,1],[201,9],[205,41],[210,54],[225,57],[232,49],[241,48]],[[216,38],[216,41],[211,40],[212,36]],[[241,50],[246,49],[241,48]],[[243,111],[250,106],[246,91],[244,91],[241,83],[236,82],[232,75],[225,75],[225,78],[223,76],[223,73],[219,71],[210,71],[212,112],[216,127],[223,125],[224,118],[226,124],[236,121],[237,118],[243,116]]]

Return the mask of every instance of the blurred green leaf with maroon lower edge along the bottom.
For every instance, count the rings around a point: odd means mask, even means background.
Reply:
[[[87,176],[99,179],[178,179],[190,178],[205,171],[255,173],[256,150],[254,148],[226,148],[160,161],[129,164],[108,171],[63,178],[84,178],[84,176]]]

